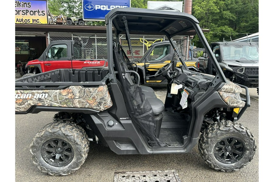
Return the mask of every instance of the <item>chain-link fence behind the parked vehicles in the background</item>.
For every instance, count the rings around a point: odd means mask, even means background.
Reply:
[[[149,46],[153,42],[162,42],[168,40],[164,35],[130,35],[133,61],[139,61]],[[57,40],[76,40],[82,43],[81,59],[107,59],[107,34],[92,33],[66,33],[66,32],[49,32],[49,42]],[[187,58],[188,53],[188,36],[176,35],[173,37],[177,49],[183,59]],[[120,35],[120,43],[129,59],[132,59],[129,51],[128,42],[125,35]],[[174,57],[178,59],[178,57]]]

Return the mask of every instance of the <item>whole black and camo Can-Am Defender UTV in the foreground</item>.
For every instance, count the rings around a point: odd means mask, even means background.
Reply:
[[[251,162],[255,139],[237,122],[250,106],[248,89],[227,81],[197,19],[138,8],[115,8],[105,18],[107,56],[113,60],[108,70],[57,69],[15,82],[16,114],[58,112],[30,144],[31,159],[41,171],[76,171],[90,141],[117,154],[188,153],[198,142],[205,162],[227,172]],[[171,39],[193,30],[214,60],[216,76],[190,71]],[[155,74],[168,80],[165,103],[152,88],[140,86],[138,73],[125,64],[119,37],[126,34],[131,49],[130,33],[164,34],[176,50],[181,67],[170,72],[168,63]],[[137,84],[129,73],[136,75]],[[240,97],[242,88],[246,99]]]

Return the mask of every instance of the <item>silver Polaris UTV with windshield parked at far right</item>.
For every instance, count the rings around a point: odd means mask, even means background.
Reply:
[[[257,88],[259,94],[259,51],[256,43],[213,42],[210,48],[227,80]],[[216,75],[216,69],[206,52],[199,61],[201,72]]]

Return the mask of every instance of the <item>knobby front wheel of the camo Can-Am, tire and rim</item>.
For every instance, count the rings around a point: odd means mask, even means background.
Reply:
[[[211,168],[223,172],[239,170],[253,159],[256,145],[252,133],[240,123],[214,123],[201,134],[199,153]]]

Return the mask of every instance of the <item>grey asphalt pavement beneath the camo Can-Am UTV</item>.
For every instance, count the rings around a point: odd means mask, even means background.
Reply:
[[[156,95],[164,100],[165,88],[154,88]],[[16,182],[112,182],[114,172],[175,170],[185,182],[256,182],[258,177],[258,95],[256,89],[249,89],[251,107],[243,114],[244,124],[256,139],[257,150],[254,159],[241,170],[225,173],[207,166],[196,145],[190,153],[155,155],[118,155],[101,144],[90,143],[85,163],[68,176],[50,176],[41,172],[30,159],[30,143],[34,135],[47,123],[52,122],[55,112],[41,112],[15,116],[15,179]],[[244,97],[244,95],[242,95]]]

